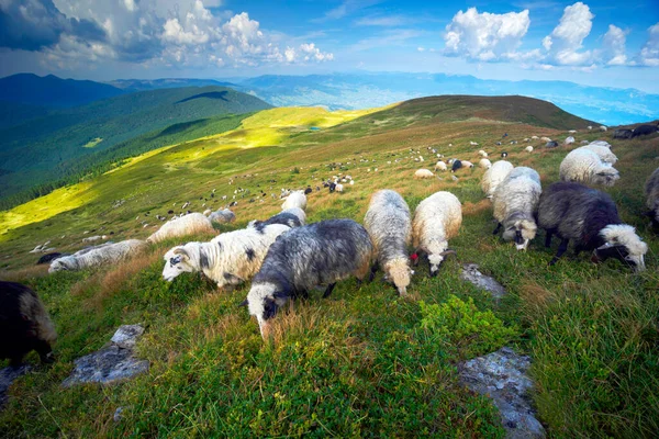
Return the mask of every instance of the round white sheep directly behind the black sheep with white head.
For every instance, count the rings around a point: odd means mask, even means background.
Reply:
[[[612,187],[619,179],[617,169],[604,164],[597,154],[587,147],[572,150],[560,162],[559,176],[562,181],[577,181]]]

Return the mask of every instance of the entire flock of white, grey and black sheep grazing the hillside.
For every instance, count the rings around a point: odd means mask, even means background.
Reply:
[[[604,132],[606,127],[601,126],[600,131]],[[537,139],[537,136],[532,138]],[[572,138],[568,144],[573,142]],[[470,145],[478,146],[478,143]],[[523,150],[533,153],[534,148],[526,146]],[[432,151],[436,154],[434,149]],[[559,167],[561,181],[545,190],[534,169],[515,168],[503,159],[492,162],[482,149],[478,156],[481,157],[479,167],[485,169],[481,189],[492,202],[496,222],[494,234],[502,230],[503,240],[513,241],[518,250],[526,250],[541,228],[546,233],[546,247],[550,246],[554,236],[560,239],[550,264],[572,241],[577,255],[589,251],[594,262],[615,258],[636,271],[645,269],[647,244],[634,227],[623,223],[608,194],[589,187],[612,187],[619,179],[619,172],[613,168],[617,157],[608,143],[596,140],[571,150]],[[501,156],[506,158],[507,153]],[[415,161],[422,160],[415,158]],[[455,172],[473,165],[460,159],[439,160],[435,170],[447,171],[449,167]],[[428,169],[418,169],[414,178],[437,177]],[[335,177],[323,185],[331,192],[340,192],[343,183],[348,182],[354,183],[349,176]],[[325,285],[323,297],[327,297],[336,282],[350,277],[372,281],[377,270],[381,269],[384,280],[404,296],[414,274],[413,267],[420,260],[427,261],[429,274],[435,277],[446,257],[456,254],[448,243],[459,233],[462,209],[458,198],[450,192],[429,195],[412,215],[398,192],[380,190],[370,199],[364,226],[351,219],[306,224],[306,194],[311,192],[311,187],[301,191],[282,190],[282,211],[275,216],[252,221],[245,228],[220,234],[208,243],[175,246],[164,255],[163,278],[170,282],[185,272],[201,272],[220,290],[252,280],[242,305],[256,317],[261,336],[267,338],[269,324],[278,309],[291,299],[306,297],[316,286]],[[659,168],[647,179],[645,194],[646,215],[659,229]],[[208,210],[205,215],[189,213],[166,222],[146,241],[107,243],[74,255],[42,259],[51,262],[51,273],[111,264],[132,257],[148,243],[211,234],[214,233],[213,223],[234,221],[235,214],[227,209]],[[41,247],[45,248],[47,244]],[[0,282],[0,306],[4,311],[0,317],[0,333],[11,335],[5,337],[10,341],[0,344],[0,358],[11,359],[13,364],[29,351],[36,350],[43,361],[49,361],[51,344],[56,334],[34,292],[20,284]]]

